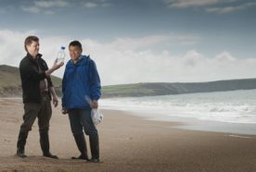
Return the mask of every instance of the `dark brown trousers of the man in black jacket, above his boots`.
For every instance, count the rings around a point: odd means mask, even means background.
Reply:
[[[20,126],[20,132],[28,132],[32,130],[32,125],[36,117],[38,118],[39,131],[48,131],[49,121],[52,117],[52,107],[48,95],[43,96],[41,104],[24,104],[23,123]]]

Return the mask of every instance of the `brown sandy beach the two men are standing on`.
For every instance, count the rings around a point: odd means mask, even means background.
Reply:
[[[22,122],[21,99],[0,99],[0,171],[173,171],[255,172],[256,135],[177,129],[185,122],[149,121],[129,112],[104,110],[98,125],[100,164],[71,160],[79,155],[68,116],[53,107],[50,150],[42,156],[35,121],[26,144],[28,157],[15,155]],[[87,147],[88,137],[86,137]],[[89,151],[89,150],[88,150]]]

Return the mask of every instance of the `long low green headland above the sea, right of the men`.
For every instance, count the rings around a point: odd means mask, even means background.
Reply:
[[[193,92],[225,92],[256,89],[256,79],[188,83],[135,83],[103,87],[103,97],[153,96]]]

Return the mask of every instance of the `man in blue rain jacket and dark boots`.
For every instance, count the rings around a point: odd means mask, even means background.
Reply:
[[[84,159],[99,163],[99,141],[97,129],[92,121],[91,109],[97,108],[101,86],[96,63],[90,56],[82,55],[82,44],[73,41],[69,45],[70,61],[62,80],[62,113],[69,114],[70,128],[81,155],[72,159]],[[85,101],[89,97],[92,103]],[[92,159],[89,160],[83,134],[89,135]]]

